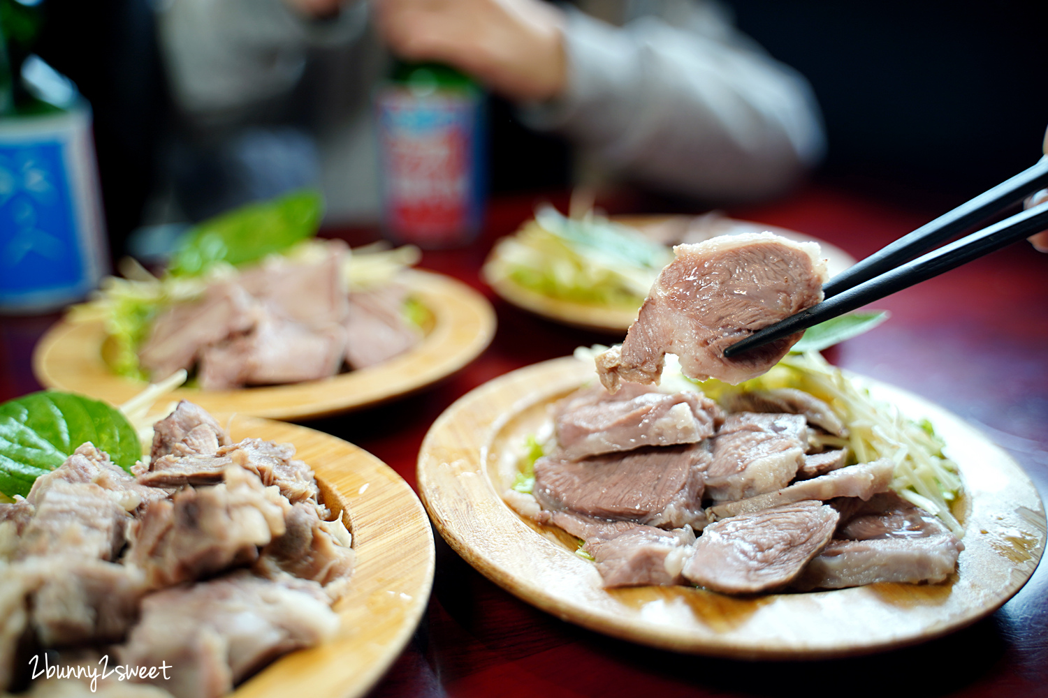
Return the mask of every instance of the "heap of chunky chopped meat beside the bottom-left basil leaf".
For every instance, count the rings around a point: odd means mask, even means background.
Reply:
[[[212,698],[339,629],[355,554],[294,447],[233,444],[182,401],[133,475],[91,444],[0,503],[0,692],[29,655],[169,667],[152,682]],[[153,695],[153,694],[150,694]]]

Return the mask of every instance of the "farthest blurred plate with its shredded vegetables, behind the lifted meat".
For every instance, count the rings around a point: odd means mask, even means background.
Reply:
[[[855,260],[811,235],[713,212],[704,216],[565,218],[542,208],[499,241],[484,263],[484,280],[504,300],[547,319],[621,335],[637,317],[671,248],[712,238],[771,231],[822,247],[830,274]]]

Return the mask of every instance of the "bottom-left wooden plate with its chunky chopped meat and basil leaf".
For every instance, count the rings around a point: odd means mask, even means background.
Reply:
[[[57,392],[0,407],[4,430],[38,436],[21,469],[4,465],[5,494],[25,496],[0,503],[0,690],[28,682],[31,647],[60,677],[40,682],[80,692],[94,679],[92,692],[156,698],[367,693],[433,582],[411,488],[342,440],[185,401],[128,466],[121,442],[137,438],[107,409]],[[66,437],[85,411],[108,451]]]

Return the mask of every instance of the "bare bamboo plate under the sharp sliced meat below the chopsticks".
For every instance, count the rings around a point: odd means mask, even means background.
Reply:
[[[554,359],[473,390],[434,423],[418,457],[418,489],[437,530],[470,564],[565,621],[678,652],[752,659],[814,659],[923,641],[994,612],[1033,573],[1045,511],[1003,450],[946,410],[856,378],[879,401],[927,418],[959,466],[965,523],[959,573],[943,584],[881,583],[811,593],[730,598],[691,587],[605,590],[566,534],[525,522],[500,497],[527,434],[547,407],[593,378],[592,365]],[[574,541],[574,539],[570,539]]]

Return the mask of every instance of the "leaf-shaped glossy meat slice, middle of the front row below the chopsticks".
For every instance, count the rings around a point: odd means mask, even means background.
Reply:
[[[807,500],[711,523],[683,576],[724,593],[758,593],[789,584],[826,547],[839,515]]]

